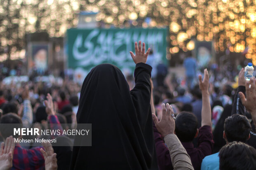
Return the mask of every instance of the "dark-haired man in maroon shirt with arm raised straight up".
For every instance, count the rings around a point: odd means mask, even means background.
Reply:
[[[175,134],[191,158],[194,170],[200,170],[203,158],[213,150],[213,134],[211,131],[211,105],[209,99],[209,75],[204,70],[204,80],[199,76],[199,87],[202,92],[201,128],[197,129],[197,118],[190,112],[181,112],[175,120]],[[194,148],[192,140],[198,136],[198,147]],[[154,138],[159,170],[173,169],[168,148],[161,134],[154,127]]]

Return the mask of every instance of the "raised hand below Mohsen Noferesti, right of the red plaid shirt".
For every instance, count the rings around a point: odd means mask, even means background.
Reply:
[[[50,144],[49,142],[43,142],[42,144],[45,150],[41,148],[40,151],[45,158],[45,170],[57,170],[57,154],[54,153],[52,144]]]

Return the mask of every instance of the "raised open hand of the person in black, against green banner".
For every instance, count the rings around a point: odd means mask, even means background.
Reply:
[[[132,51],[130,51],[130,55],[132,56],[135,64],[146,63],[149,51],[150,51],[150,48],[147,49],[147,52],[145,54],[145,43],[144,42],[142,43],[142,49],[141,49],[141,41],[139,41],[139,48],[138,48],[137,42],[135,42],[135,55],[133,54]]]

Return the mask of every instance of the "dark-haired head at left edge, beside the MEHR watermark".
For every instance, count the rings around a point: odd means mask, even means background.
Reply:
[[[5,124],[10,125],[8,125],[7,128]],[[0,132],[2,137],[4,137],[5,139],[11,135],[15,138],[19,137],[19,135],[13,134],[13,128],[22,128],[21,118],[14,113],[8,113],[3,115],[0,119]]]

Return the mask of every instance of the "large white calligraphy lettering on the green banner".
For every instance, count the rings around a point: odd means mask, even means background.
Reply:
[[[78,33],[73,44],[72,54],[77,61],[76,65],[98,65],[100,63],[117,63],[118,65],[134,65],[130,59],[129,51],[134,49],[133,42],[141,40],[154,47],[154,56],[160,58],[163,51],[159,47],[164,45],[165,37],[159,30],[136,32],[130,30],[92,30],[83,40],[83,34]],[[96,39],[96,41],[95,41]],[[83,50],[80,50],[83,49]]]

